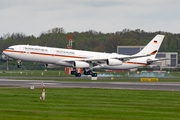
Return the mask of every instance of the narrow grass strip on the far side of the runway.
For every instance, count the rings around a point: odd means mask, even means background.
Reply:
[[[140,79],[141,79],[141,76],[139,76],[139,74],[136,74],[135,72],[130,72],[129,76],[127,75],[127,72],[119,72],[119,73],[105,72],[105,73],[99,73],[99,74],[114,75],[114,80],[111,80],[111,76],[106,77],[106,78],[99,77],[97,82],[140,82]],[[155,73],[155,75],[159,75],[159,74]],[[0,71],[0,77],[5,77],[6,79],[18,79],[18,80],[20,79],[32,80],[33,79],[33,80],[57,80],[57,81],[73,81],[73,82],[91,81],[90,77],[77,78],[73,75],[64,74],[63,71],[58,71],[58,70]],[[72,79],[69,79],[69,78],[66,79],[63,77],[72,77]],[[157,78],[159,78],[159,82],[180,82],[180,79],[179,79],[180,73],[179,72],[171,72],[169,74],[166,73],[164,77],[161,77],[160,75],[160,77],[157,76]],[[92,81],[92,82],[96,82],[96,81]]]

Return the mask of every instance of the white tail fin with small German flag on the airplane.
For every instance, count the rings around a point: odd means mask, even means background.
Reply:
[[[156,35],[139,53],[136,55],[150,54],[151,58],[155,58],[161,43],[164,39],[164,35]]]

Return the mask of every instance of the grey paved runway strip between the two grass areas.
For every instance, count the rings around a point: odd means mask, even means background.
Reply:
[[[46,88],[108,88],[128,90],[180,91],[179,82],[62,82],[43,81]],[[42,80],[0,79],[0,87],[40,88]]]

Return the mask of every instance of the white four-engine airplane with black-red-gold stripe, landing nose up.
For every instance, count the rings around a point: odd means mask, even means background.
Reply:
[[[134,55],[122,55],[117,53],[103,53],[43,47],[36,45],[13,45],[3,51],[2,54],[21,61],[39,62],[46,65],[73,67],[72,75],[81,77],[77,68],[83,68],[84,75],[97,77],[93,69],[125,70],[148,66],[160,61],[155,56],[164,39],[164,35],[156,35],[139,53]]]

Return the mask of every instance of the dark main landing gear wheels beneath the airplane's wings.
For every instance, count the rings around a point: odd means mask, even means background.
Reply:
[[[91,75],[92,77],[97,77],[97,73],[93,73],[92,70],[86,70],[83,69],[84,75]],[[81,73],[78,73],[76,68],[73,68],[73,71],[71,71],[71,75],[75,75],[76,77],[81,77]]]

